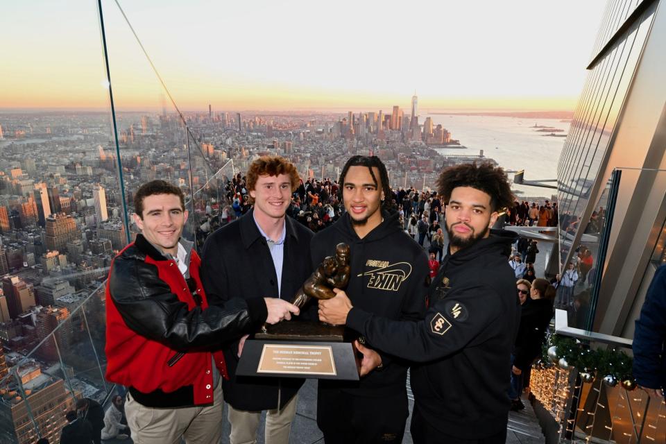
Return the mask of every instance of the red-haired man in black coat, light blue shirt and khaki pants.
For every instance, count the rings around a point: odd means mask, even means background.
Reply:
[[[263,156],[250,164],[246,177],[253,210],[206,240],[203,287],[208,295],[223,301],[234,295],[249,302],[258,294],[291,300],[311,274],[313,233],[286,216],[290,196],[298,187],[298,171],[283,157]],[[312,219],[316,230],[323,228],[316,212]],[[227,254],[228,250],[234,254]],[[223,380],[222,386],[231,425],[230,443],[255,442],[262,411],[266,411],[266,443],[288,444],[296,394],[305,379],[237,376],[246,339],[247,334],[224,347],[229,379]]]

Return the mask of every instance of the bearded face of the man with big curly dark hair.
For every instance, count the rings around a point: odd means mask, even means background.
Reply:
[[[454,188],[446,206],[451,253],[488,237],[497,216],[497,212],[491,210],[490,196],[484,191],[472,187]]]

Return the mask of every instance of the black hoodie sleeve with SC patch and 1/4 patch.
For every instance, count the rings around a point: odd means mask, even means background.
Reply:
[[[423,321],[391,321],[352,308],[347,325],[361,332],[379,350],[427,362],[465,348],[499,316],[499,300],[489,287],[466,287],[438,300]]]

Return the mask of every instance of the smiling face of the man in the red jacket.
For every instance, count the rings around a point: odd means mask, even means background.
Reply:
[[[187,221],[187,210],[180,206],[175,194],[152,194],[143,200],[141,217],[133,214],[134,221],[151,244],[164,253],[178,254],[178,239]]]

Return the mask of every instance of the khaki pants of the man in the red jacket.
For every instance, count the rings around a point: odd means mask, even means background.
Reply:
[[[127,393],[125,415],[135,444],[219,444],[222,437],[222,382],[206,407],[155,409],[136,402]]]

